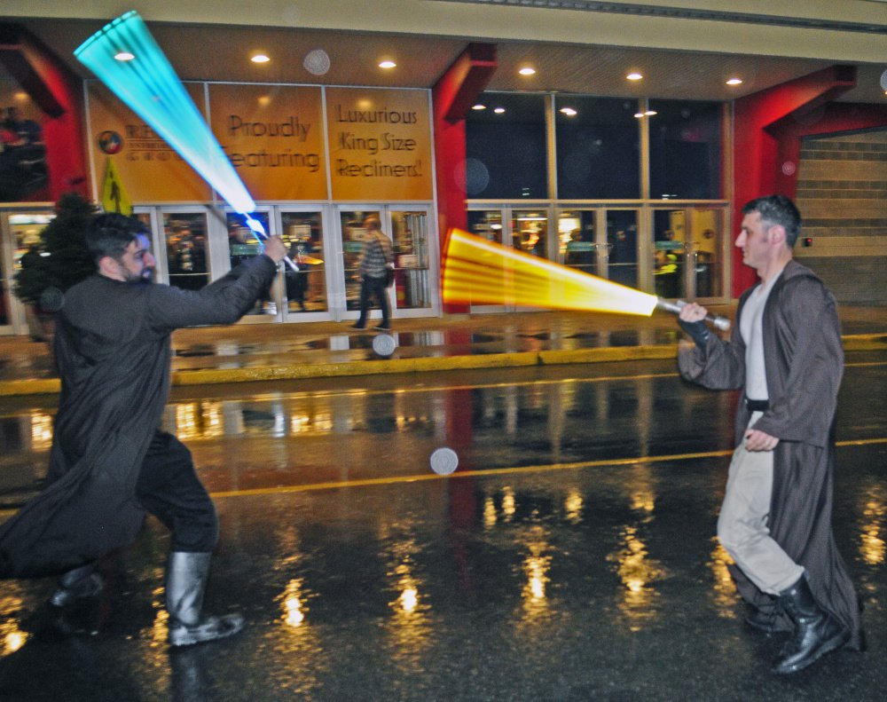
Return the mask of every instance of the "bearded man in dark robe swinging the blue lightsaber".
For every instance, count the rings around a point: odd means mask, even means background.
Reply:
[[[166,596],[169,643],[232,635],[239,615],[200,608],[218,538],[216,509],[191,454],[158,429],[169,394],[174,329],[231,324],[267,288],[286,255],[271,237],[263,255],[199,291],[151,281],[141,223],[98,215],[84,233],[98,272],[67,290],[55,355],[61,377],[47,485],[0,525],[0,578],[62,573],[51,603],[98,593],[96,561],[133,540],[145,510],[172,532]]]

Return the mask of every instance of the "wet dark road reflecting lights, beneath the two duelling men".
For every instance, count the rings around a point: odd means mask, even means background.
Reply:
[[[207,608],[247,629],[169,651],[168,537],[149,520],[101,565],[103,596],[64,616],[51,582],[0,582],[0,698],[883,699],[878,343],[848,354],[837,426],[836,539],[866,653],[774,676],[781,637],[742,624],[714,538],[733,393],[682,383],[673,359],[456,369],[174,389],[165,425],[222,518]],[[14,509],[54,398],[3,406]],[[441,446],[459,455],[446,477],[428,466]]]

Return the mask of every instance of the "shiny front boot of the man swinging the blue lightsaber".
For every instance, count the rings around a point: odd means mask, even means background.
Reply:
[[[208,553],[173,551],[167,564],[166,602],[169,611],[169,645],[191,646],[237,634],[243,617],[227,614],[204,617],[203,593],[209,573]]]

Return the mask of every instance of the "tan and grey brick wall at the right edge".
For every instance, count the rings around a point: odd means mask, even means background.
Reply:
[[[805,138],[795,256],[842,304],[887,304],[887,130]]]

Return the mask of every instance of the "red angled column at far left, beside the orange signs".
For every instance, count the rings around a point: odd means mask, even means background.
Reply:
[[[43,110],[49,188],[36,200],[75,191],[90,197],[82,140],[82,82],[26,28],[0,24],[0,63]]]

